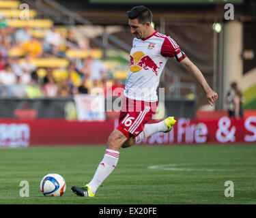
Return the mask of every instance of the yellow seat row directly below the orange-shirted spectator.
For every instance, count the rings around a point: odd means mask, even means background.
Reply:
[[[24,59],[20,59],[20,62]],[[36,67],[68,67],[69,61],[67,59],[31,59]]]

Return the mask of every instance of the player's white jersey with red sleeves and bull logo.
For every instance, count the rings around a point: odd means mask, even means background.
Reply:
[[[134,38],[124,95],[129,99],[157,102],[156,89],[168,57],[177,61],[186,57],[171,37],[154,32],[145,39]]]

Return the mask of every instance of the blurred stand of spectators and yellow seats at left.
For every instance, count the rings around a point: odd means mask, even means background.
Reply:
[[[55,26],[33,9],[26,19],[20,4],[0,1],[0,97],[71,97],[81,86],[89,93],[126,78],[116,61],[102,60],[101,48],[91,48],[87,38],[78,40],[72,26]],[[23,94],[16,94],[17,87]]]

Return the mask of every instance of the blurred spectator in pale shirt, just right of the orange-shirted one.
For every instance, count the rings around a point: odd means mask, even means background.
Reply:
[[[52,27],[51,30],[49,30],[44,37],[44,51],[57,55],[60,50],[60,46],[61,35],[57,33],[57,27]]]

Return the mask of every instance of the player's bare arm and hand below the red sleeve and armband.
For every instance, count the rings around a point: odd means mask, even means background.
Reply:
[[[190,74],[194,76],[194,78],[199,82],[201,87],[203,88],[203,91],[205,92],[206,97],[208,98],[208,102],[211,106],[213,106],[214,102],[218,99],[218,94],[213,91],[208,82],[205,80],[203,74],[201,71],[198,69],[198,67],[188,59],[188,57],[185,57],[180,61],[183,67],[185,67]]]

